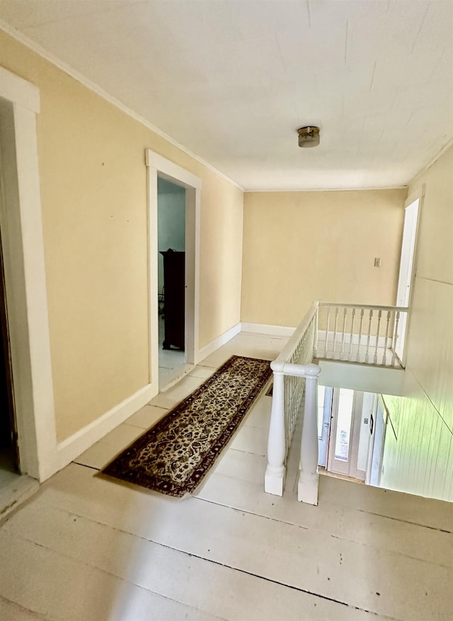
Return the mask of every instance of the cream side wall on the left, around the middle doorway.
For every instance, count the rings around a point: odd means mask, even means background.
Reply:
[[[202,178],[200,347],[240,319],[243,194],[0,31],[0,65],[38,86],[38,157],[59,441],[149,383],[152,149]]]

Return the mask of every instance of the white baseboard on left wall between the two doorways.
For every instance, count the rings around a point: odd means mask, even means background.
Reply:
[[[81,453],[86,451],[98,440],[101,440],[109,431],[125,422],[156,395],[156,390],[151,384],[137,390],[137,393],[128,397],[101,417],[86,425],[80,431],[57,444],[58,469],[71,463]]]

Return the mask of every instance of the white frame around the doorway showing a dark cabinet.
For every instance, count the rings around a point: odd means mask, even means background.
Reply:
[[[185,168],[146,150],[148,168],[149,235],[149,374],[154,393],[159,392],[159,311],[158,311],[158,207],[157,177],[185,187],[185,360],[199,360],[200,306],[200,204],[201,179]]]

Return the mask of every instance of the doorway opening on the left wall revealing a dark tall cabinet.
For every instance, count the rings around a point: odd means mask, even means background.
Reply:
[[[185,187],[157,178],[159,386],[185,365]]]

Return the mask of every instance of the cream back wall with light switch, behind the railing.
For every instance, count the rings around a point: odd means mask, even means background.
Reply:
[[[394,304],[405,198],[404,189],[246,193],[243,322],[295,326],[315,300]]]

